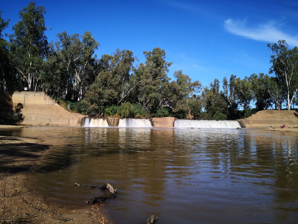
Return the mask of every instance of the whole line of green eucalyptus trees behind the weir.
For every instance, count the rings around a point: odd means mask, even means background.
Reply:
[[[182,70],[175,71],[176,80],[171,81],[167,74],[172,62],[159,47],[144,51],[145,64],[134,66],[138,60],[130,50],[116,49],[97,58],[100,44],[89,31],[83,36],[63,31],[56,42],[48,42],[46,11],[35,2],[20,11],[21,20],[7,41],[2,32],[10,20],[1,13],[0,90],[45,91],[94,117],[237,119],[252,111],[298,105],[297,47],[288,49],[284,40],[268,44],[270,76],[231,75],[202,87]]]

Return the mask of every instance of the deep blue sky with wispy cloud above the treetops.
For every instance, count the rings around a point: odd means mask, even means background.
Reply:
[[[19,11],[30,1],[1,1],[4,30],[12,33]],[[100,43],[97,56],[117,48],[143,51],[160,47],[173,62],[168,76],[182,70],[203,86],[231,74],[244,78],[268,73],[267,43],[285,39],[298,46],[298,1],[35,1],[46,8],[48,40],[57,33],[90,31]],[[50,27],[52,28],[50,30]]]

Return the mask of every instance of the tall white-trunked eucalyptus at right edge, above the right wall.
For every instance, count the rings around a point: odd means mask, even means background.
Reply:
[[[269,73],[274,73],[280,79],[283,91],[287,97],[288,110],[291,110],[293,100],[298,92],[298,48],[288,49],[285,40],[267,45],[271,52],[272,66]]]

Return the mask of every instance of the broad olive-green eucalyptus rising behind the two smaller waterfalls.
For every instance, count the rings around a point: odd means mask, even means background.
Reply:
[[[117,49],[100,59],[100,71],[86,91],[86,99],[96,105],[119,105],[141,82],[132,73],[136,57],[130,50]]]

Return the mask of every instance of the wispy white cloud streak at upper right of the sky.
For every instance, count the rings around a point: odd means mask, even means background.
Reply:
[[[257,27],[246,27],[244,21],[234,21],[227,19],[224,21],[224,27],[230,33],[243,36],[249,39],[260,40],[264,42],[277,42],[285,40],[288,45],[298,46],[298,36],[291,36],[277,29],[274,24],[261,24]]]

